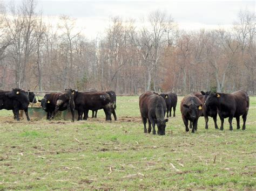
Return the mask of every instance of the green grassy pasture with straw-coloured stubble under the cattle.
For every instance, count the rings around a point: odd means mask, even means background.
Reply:
[[[234,189],[256,186],[256,97],[246,130],[186,133],[178,97],[165,136],[145,135],[138,96],[117,97],[117,122],[14,121],[0,111],[1,189]],[[90,114],[91,115],[91,112]],[[220,120],[218,118],[218,125]],[[214,160],[215,159],[215,160]]]

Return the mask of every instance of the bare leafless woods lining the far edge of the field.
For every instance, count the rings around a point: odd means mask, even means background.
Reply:
[[[247,10],[229,30],[179,30],[159,10],[144,20],[113,17],[92,40],[76,19],[60,16],[55,24],[44,18],[33,0],[1,4],[0,89],[255,94],[255,15]]]

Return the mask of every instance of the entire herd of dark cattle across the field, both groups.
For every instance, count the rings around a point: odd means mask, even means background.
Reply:
[[[41,107],[47,112],[47,119],[55,117],[57,111],[70,109],[72,114],[72,122],[75,118],[75,110],[78,111],[78,121],[88,118],[89,110],[92,110],[92,117],[97,117],[97,110],[103,109],[106,121],[111,121],[113,114],[114,120],[116,116],[116,94],[114,91],[86,91],[78,92],[73,89],[66,89],[61,93],[46,94],[41,102]],[[15,88],[11,91],[0,90],[0,110],[12,110],[14,118],[19,121],[19,110],[24,110],[26,118],[30,121],[28,115],[29,103],[36,103],[35,94],[32,91],[25,92],[22,89]],[[144,133],[151,132],[156,135],[155,126],[157,125],[158,135],[165,135],[166,122],[171,117],[173,109],[173,117],[175,117],[177,106],[177,95],[171,91],[163,94],[152,93],[147,91],[139,96],[139,108],[144,124]],[[240,116],[243,119],[242,130],[245,130],[245,123],[249,109],[249,97],[243,90],[235,91],[232,94],[211,93],[204,91],[192,93],[183,98],[180,103],[181,116],[186,128],[188,129],[188,121],[190,121],[190,129],[192,133],[197,131],[198,118],[204,116],[205,129],[208,129],[208,116],[213,118],[215,129],[218,129],[217,115],[220,117],[223,130],[224,118],[228,118],[230,130],[233,130],[232,119],[237,119],[237,129],[240,129]],[[94,115],[95,114],[95,115]],[[167,118],[165,119],[165,114]],[[84,115],[84,116],[83,116]],[[149,123],[148,129],[146,123]]]

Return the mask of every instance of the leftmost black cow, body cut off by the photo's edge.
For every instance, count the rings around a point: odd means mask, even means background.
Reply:
[[[19,121],[19,110],[24,110],[26,119],[30,121],[28,114],[29,97],[25,91],[15,88],[11,91],[0,90],[0,109],[12,110],[15,119]]]

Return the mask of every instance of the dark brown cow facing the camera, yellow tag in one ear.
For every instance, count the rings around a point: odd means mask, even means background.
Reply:
[[[189,131],[188,121],[193,125],[192,133],[194,133],[195,130],[197,131],[197,122],[202,114],[202,107],[202,102],[194,94],[187,95],[181,100],[180,111],[187,132]]]

